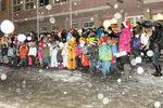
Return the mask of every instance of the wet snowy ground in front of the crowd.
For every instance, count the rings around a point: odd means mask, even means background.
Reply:
[[[162,64],[163,66],[163,64]],[[154,108],[163,107],[163,79],[152,77],[151,63],[139,75],[131,67],[128,82],[88,72],[0,66],[0,108]],[[122,71],[122,70],[118,70]]]

